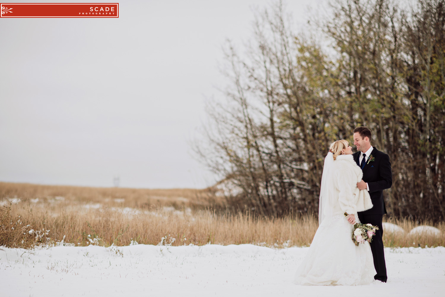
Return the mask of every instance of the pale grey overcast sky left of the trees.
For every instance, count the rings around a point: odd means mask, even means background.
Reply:
[[[206,98],[222,96],[221,46],[241,46],[251,9],[269,3],[122,1],[114,19],[1,19],[0,181],[211,185],[188,142]],[[298,29],[323,3],[293,0],[287,11]]]

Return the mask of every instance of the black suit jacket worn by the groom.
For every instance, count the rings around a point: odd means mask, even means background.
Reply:
[[[357,165],[359,164],[361,152],[358,151],[352,156]],[[384,215],[386,212],[385,202],[383,199],[383,190],[392,186],[392,171],[389,156],[384,152],[377,150],[375,147],[371,155],[374,161],[366,162],[363,171],[363,181],[368,183],[369,195],[371,196],[372,208],[364,212],[364,215]]]

